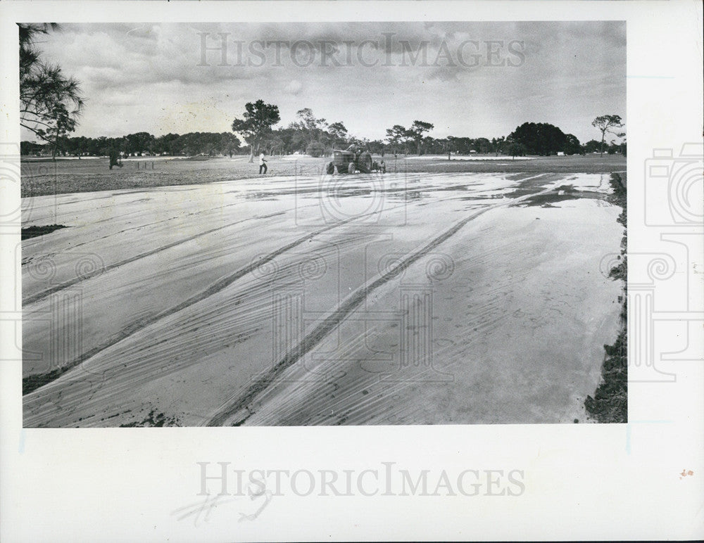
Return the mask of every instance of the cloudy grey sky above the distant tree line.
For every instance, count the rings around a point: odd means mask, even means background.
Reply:
[[[532,121],[587,141],[596,115],[626,113],[622,22],[64,24],[39,47],[82,84],[77,136],[229,131],[258,98],[279,126],[310,108],[369,139],[413,120],[489,138]]]

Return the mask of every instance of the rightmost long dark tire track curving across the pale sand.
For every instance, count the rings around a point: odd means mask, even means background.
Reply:
[[[539,194],[548,193],[552,190],[553,189],[551,187],[549,189],[540,191]],[[460,229],[462,229],[463,226],[465,226],[465,224],[470,222],[472,219],[476,219],[477,217],[479,217],[479,215],[483,215],[487,211],[495,210],[499,207],[510,207],[511,205],[516,205],[520,201],[526,198],[530,198],[532,196],[536,196],[536,194],[527,194],[525,196],[520,196],[511,200],[510,202],[492,205],[472,213],[468,217],[465,217],[465,219],[460,220],[460,222],[455,223],[455,225],[451,226],[451,228],[439,234],[439,236],[433,238],[431,241],[429,241],[429,243],[424,245],[419,250],[410,253],[408,257],[396,264],[396,266],[388,272],[377,276],[376,279],[367,281],[365,285],[360,286],[360,288],[355,290],[351,295],[349,295],[345,300],[343,300],[341,304],[338,305],[336,309],[334,309],[332,314],[329,314],[327,317],[325,317],[325,319],[322,319],[322,321],[320,321],[320,323],[318,323],[318,325],[315,326],[312,331],[306,334],[306,336],[303,338],[303,340],[301,340],[300,343],[298,343],[298,345],[295,345],[293,348],[291,348],[291,350],[289,350],[287,354],[285,354],[284,357],[279,360],[279,362],[277,362],[274,367],[272,367],[272,369],[267,371],[263,376],[254,381],[254,383],[249,385],[249,388],[247,388],[244,395],[241,395],[239,398],[232,400],[231,402],[229,402],[229,404],[225,404],[225,406],[223,406],[220,411],[215,413],[215,415],[213,415],[210,420],[206,423],[206,426],[223,426],[228,421],[228,419],[231,419],[232,417],[241,413],[241,411],[244,410],[246,411],[246,414],[243,414],[244,416],[242,416],[241,419],[232,423],[232,426],[241,426],[241,424],[243,424],[251,416],[251,410],[247,408],[260,394],[260,392],[266,390],[266,388],[268,388],[269,385],[274,383],[275,379],[279,377],[284,370],[298,362],[298,360],[304,357],[308,352],[310,352],[313,347],[318,345],[318,343],[320,343],[323,338],[325,338],[330,332],[334,331],[334,329],[337,328],[337,326],[339,326],[339,324],[351,312],[353,312],[353,310],[356,309],[367,298],[368,295],[370,295],[370,293],[379,288],[379,286],[384,285],[384,283],[387,283],[391,281],[391,279],[394,279],[396,276],[401,274],[401,272],[410,267],[411,264],[417,262],[417,260],[420,260],[428,253],[431,253],[434,248],[436,248],[444,241],[448,240],[448,238],[451,238],[451,236],[460,231]]]

